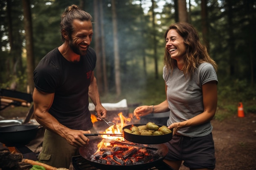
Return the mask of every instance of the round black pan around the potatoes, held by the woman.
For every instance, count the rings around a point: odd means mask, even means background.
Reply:
[[[138,127],[138,126],[142,126],[142,125],[146,125],[146,124],[132,124],[132,125],[124,126],[123,127],[124,139],[131,141],[131,142],[135,142],[137,144],[163,144],[163,143],[170,141],[173,138],[173,132],[171,132],[169,134],[165,134],[165,135],[144,136],[144,135],[134,135],[134,134],[124,131],[125,128],[131,129],[133,126]],[[160,128],[164,125],[157,124],[157,126],[159,126],[159,128]]]

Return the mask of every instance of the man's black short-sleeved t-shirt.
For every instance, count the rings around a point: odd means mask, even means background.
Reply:
[[[90,47],[79,62],[67,61],[56,48],[43,57],[34,71],[35,87],[55,93],[49,113],[68,128],[92,128],[88,87],[95,65],[96,54]]]

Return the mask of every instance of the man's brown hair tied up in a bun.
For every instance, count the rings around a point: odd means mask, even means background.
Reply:
[[[61,23],[60,28],[61,31],[64,29],[68,34],[69,38],[71,38],[71,34],[73,31],[73,21],[80,20],[80,21],[92,21],[92,16],[90,13],[87,13],[81,10],[77,5],[71,5],[65,9],[63,14],[61,15]],[[61,34],[61,39],[64,42],[65,38]]]

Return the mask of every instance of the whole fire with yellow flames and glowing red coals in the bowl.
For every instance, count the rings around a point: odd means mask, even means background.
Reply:
[[[109,134],[122,134],[122,128],[127,125],[126,123],[132,120],[132,116],[129,115],[131,118],[126,118],[122,113],[119,113],[118,116],[119,117],[116,117],[115,120],[113,120],[115,125],[107,128],[105,132],[101,132],[106,134],[101,135],[101,137],[104,138],[104,141],[108,141],[107,139],[110,139],[111,141],[124,141],[124,137],[122,136],[113,136]],[[148,148],[136,145],[128,146],[125,143],[120,144],[118,142],[111,142],[110,144],[108,142],[103,142],[102,139],[100,140],[101,142],[97,145],[97,151],[93,155],[90,155],[91,161],[97,163],[125,166],[148,163],[162,158],[161,153],[156,150],[148,150]]]

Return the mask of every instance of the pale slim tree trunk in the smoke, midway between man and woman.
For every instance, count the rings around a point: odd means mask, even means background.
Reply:
[[[112,4],[112,23],[113,23],[113,41],[114,41],[114,58],[115,58],[115,84],[117,97],[121,95],[121,81],[120,81],[120,62],[119,62],[119,47],[117,38],[117,13],[115,7],[115,0],[111,0]]]

